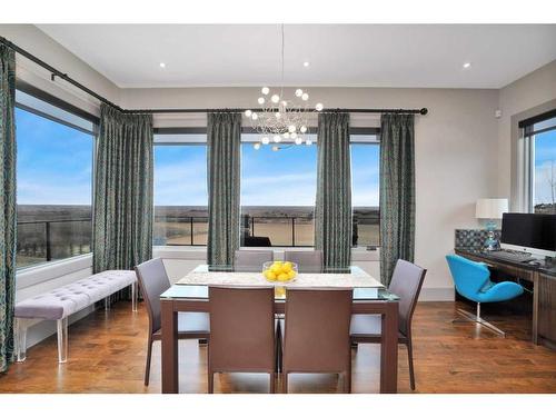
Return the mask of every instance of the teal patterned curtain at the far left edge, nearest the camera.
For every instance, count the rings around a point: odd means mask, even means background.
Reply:
[[[0,44],[0,373],[13,361],[16,298],[16,56]]]

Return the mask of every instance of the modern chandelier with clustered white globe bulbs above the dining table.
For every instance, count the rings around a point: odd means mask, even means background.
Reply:
[[[294,90],[294,89],[292,89]],[[311,106],[309,93],[296,88],[291,97],[285,96],[284,88],[284,24],[281,24],[281,87],[271,90],[268,87],[260,89],[261,96],[257,99],[257,110],[246,110],[245,116],[251,121],[254,130],[260,135],[260,141],[254,145],[260,149],[264,145],[272,142],[272,150],[277,151],[282,141],[296,145],[312,145],[307,137],[309,133],[309,115],[321,111],[321,102]],[[288,145],[287,147],[289,147]]]

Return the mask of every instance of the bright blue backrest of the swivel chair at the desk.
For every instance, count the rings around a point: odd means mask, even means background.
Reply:
[[[459,255],[446,256],[456,290],[467,299],[477,301],[477,295],[489,282],[490,271],[485,264],[474,262]]]

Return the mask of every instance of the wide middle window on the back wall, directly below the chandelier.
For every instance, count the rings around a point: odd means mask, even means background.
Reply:
[[[255,149],[241,137],[241,238],[245,246],[314,246],[317,146]]]

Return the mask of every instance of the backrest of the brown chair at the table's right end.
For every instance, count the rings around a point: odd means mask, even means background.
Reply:
[[[426,269],[404,259],[398,259],[394,268],[388,290],[399,297],[399,331],[404,336],[411,331],[411,319],[426,274]]]

